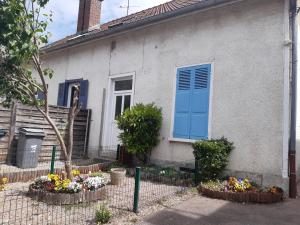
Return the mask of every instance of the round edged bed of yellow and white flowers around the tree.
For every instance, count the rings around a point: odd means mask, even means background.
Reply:
[[[103,199],[106,180],[101,173],[83,174],[72,171],[73,180],[57,174],[37,178],[29,186],[29,195],[49,204],[77,204]]]

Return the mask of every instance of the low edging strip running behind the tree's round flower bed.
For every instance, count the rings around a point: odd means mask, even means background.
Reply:
[[[105,163],[97,163],[92,164],[89,166],[73,166],[73,169],[77,169],[82,174],[88,174],[89,171],[91,172],[98,172],[99,170],[104,170],[109,167],[109,165],[112,162],[105,162]],[[55,169],[55,174],[62,174],[64,169]],[[50,173],[49,169],[43,169],[43,170],[32,170],[32,171],[18,171],[18,172],[11,172],[11,173],[1,173],[0,179],[3,177],[8,178],[9,183],[15,183],[15,182],[28,182],[32,181],[37,177],[47,175]]]

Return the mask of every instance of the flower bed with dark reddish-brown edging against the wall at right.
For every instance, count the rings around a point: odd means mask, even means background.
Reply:
[[[199,191],[207,197],[234,202],[275,203],[283,200],[283,190],[279,187],[258,187],[248,179],[234,177],[202,183]]]

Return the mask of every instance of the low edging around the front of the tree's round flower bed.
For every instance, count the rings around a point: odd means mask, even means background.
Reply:
[[[37,190],[29,186],[28,195],[32,199],[45,202],[50,205],[74,205],[104,200],[106,197],[106,188],[104,186],[95,191],[80,191],[78,193],[68,194]]]

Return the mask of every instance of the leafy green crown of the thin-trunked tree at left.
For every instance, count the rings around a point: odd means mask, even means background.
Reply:
[[[46,88],[32,74],[36,69],[40,76],[53,76],[48,68],[38,71],[40,49],[50,35],[46,29],[52,13],[41,12],[48,1],[0,0],[0,96],[4,106],[14,99],[23,104],[44,104],[35,96]]]

